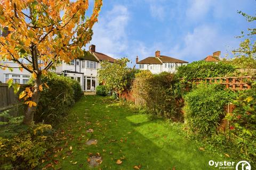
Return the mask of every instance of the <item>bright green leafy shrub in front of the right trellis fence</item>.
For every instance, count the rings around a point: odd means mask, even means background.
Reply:
[[[232,92],[220,84],[200,84],[185,96],[185,123],[190,134],[210,137],[217,132],[225,117],[225,106],[232,99]]]

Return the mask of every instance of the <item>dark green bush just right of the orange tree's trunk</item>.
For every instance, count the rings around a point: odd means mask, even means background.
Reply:
[[[34,120],[56,124],[68,115],[69,107],[82,96],[82,89],[77,81],[57,74],[43,77],[42,83],[50,88],[41,92]]]

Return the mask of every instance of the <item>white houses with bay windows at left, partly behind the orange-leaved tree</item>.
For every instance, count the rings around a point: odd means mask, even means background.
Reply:
[[[101,61],[114,63],[115,59],[106,54],[96,52],[95,45],[90,45],[89,50],[84,51],[83,57],[72,60],[69,64],[62,62],[53,72],[77,80],[84,91],[94,91],[99,84],[97,76],[98,69],[101,67]],[[0,63],[1,62],[3,61],[0,61]],[[21,62],[25,63],[26,61]],[[6,61],[4,63],[12,67],[18,66],[17,63],[12,61]],[[19,69],[15,68],[13,71],[0,69],[0,82],[6,83],[8,79],[13,79],[14,82],[26,84],[30,79],[30,75],[31,73],[26,70],[21,72]]]

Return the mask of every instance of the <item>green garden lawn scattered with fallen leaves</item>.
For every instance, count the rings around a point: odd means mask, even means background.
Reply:
[[[133,169],[141,165],[140,169],[216,169],[208,165],[209,160],[227,160],[200,150],[179,132],[177,125],[134,114],[107,97],[85,96],[71,112],[68,121],[59,125],[61,144],[47,162],[52,163],[48,167]],[[86,132],[89,129],[93,129],[93,133]],[[88,139],[97,139],[97,145],[87,146]],[[91,168],[87,159],[97,152],[102,163]],[[116,164],[118,159],[121,164]]]

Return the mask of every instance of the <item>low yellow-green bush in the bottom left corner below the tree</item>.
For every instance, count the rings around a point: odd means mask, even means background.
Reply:
[[[21,124],[21,117],[10,116],[8,112],[1,116],[7,120],[0,122],[0,169],[35,168],[53,144],[49,138],[51,125],[37,124],[29,128]]]

